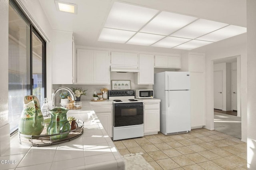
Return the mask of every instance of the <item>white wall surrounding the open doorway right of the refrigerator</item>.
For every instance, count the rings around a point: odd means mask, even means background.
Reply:
[[[212,50],[206,52],[206,128],[214,129],[214,107],[213,107],[213,60],[226,57],[237,57],[238,72],[238,112],[242,119],[242,141],[247,137],[247,52],[246,44]],[[240,64],[239,64],[240,63]],[[241,74],[240,74],[241,73]]]

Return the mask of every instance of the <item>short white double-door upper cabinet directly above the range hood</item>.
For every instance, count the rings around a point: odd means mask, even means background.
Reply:
[[[138,67],[138,53],[111,51],[111,65]]]

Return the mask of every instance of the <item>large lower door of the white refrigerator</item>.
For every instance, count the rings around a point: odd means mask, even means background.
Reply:
[[[166,91],[166,133],[191,130],[190,90]]]

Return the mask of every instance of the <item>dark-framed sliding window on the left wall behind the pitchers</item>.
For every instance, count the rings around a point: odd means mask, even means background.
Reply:
[[[23,97],[46,96],[46,42],[14,0],[9,3],[8,120],[11,134],[18,129]]]

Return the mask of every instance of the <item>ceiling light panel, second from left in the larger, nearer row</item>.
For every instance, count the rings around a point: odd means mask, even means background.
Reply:
[[[168,36],[174,31],[186,26],[198,18],[175,14],[172,12],[161,12],[150,21],[140,32],[161,34]]]

